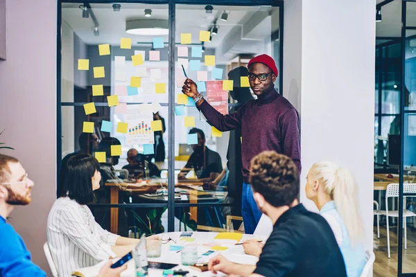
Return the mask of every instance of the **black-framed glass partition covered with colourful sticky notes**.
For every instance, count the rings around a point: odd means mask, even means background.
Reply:
[[[98,159],[89,206],[113,233],[243,231],[241,133],[211,127],[181,87],[187,75],[232,113],[253,97],[245,66],[266,53],[281,88],[282,3],[132,2],[58,1],[58,168]]]

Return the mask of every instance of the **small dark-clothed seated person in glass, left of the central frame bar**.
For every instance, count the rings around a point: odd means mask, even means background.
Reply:
[[[139,154],[135,148],[127,152],[128,165],[123,169],[128,170],[129,177],[135,179],[144,179],[150,177],[160,177],[160,170],[155,163],[146,161],[144,154]]]

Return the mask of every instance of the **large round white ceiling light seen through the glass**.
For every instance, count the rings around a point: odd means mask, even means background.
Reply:
[[[162,19],[125,21],[125,33],[130,35],[168,35],[168,21]]]

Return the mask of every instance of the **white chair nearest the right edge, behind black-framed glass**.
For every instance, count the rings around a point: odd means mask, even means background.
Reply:
[[[403,193],[413,193],[416,195],[416,184],[403,184]],[[390,259],[390,234],[388,227],[388,217],[399,217],[399,211],[388,211],[388,198],[399,197],[399,184],[389,184],[387,190],[385,190],[385,211],[376,211],[380,215],[385,215],[387,222],[387,247],[388,247],[388,258]],[[406,196],[403,197],[404,206],[406,205]],[[403,228],[404,228],[404,249],[407,249],[407,228],[406,218],[416,216],[409,210],[403,208]],[[397,226],[399,227],[399,226]]]

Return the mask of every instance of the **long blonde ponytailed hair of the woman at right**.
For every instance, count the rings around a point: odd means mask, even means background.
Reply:
[[[351,172],[331,161],[314,163],[310,172],[311,177],[323,185],[324,192],[331,195],[335,202],[351,244],[354,246],[357,242],[363,242],[363,221],[358,213],[358,187]]]

